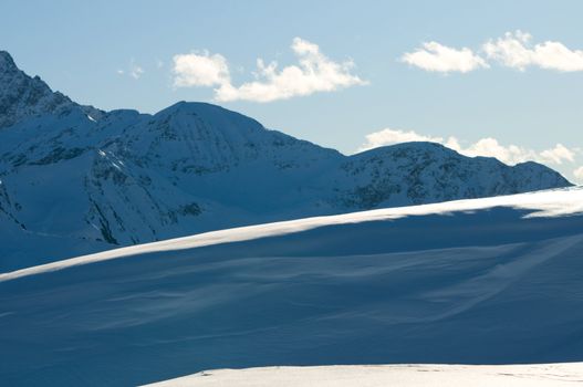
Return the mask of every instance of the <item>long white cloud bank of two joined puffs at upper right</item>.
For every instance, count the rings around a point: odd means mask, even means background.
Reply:
[[[532,43],[532,35],[520,30],[490,39],[473,51],[425,42],[421,48],[403,54],[400,60],[425,71],[441,73],[468,73],[489,69],[492,63],[519,71],[528,67],[558,72],[583,71],[583,50],[572,50],[556,41]]]

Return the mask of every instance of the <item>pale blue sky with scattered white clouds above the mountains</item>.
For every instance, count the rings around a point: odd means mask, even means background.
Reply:
[[[344,153],[418,138],[572,180],[583,167],[581,1],[3,0],[0,14],[21,69],[101,108],[215,102]]]

